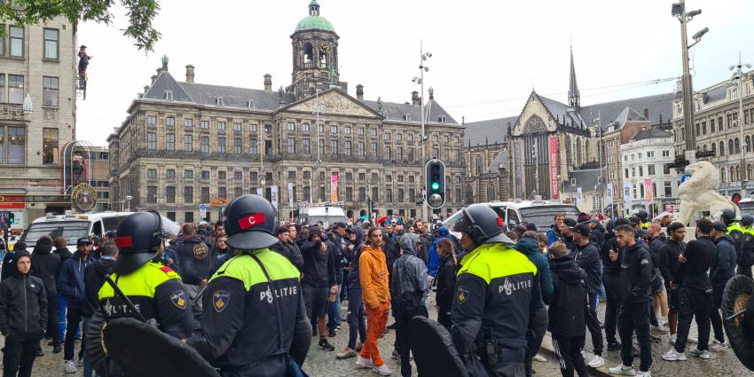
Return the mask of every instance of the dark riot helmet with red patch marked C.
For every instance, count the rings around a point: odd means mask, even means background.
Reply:
[[[228,246],[238,250],[254,250],[278,243],[274,237],[278,214],[269,201],[249,194],[231,201],[224,213]]]

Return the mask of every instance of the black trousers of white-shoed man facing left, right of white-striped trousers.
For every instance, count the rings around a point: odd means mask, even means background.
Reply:
[[[633,333],[639,341],[641,372],[652,366],[652,343],[649,342],[649,308],[652,302],[625,304],[620,311],[621,358],[623,364],[633,365]]]

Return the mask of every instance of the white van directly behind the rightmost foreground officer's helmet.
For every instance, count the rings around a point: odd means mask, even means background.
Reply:
[[[555,214],[564,214],[574,220],[581,212],[569,204],[562,204],[551,200],[518,200],[518,201],[492,201],[481,203],[490,206],[503,219],[506,229],[513,228],[523,221],[537,225],[538,232],[546,232],[554,223]],[[443,222],[443,225],[452,230],[453,225],[459,222],[461,211],[454,213]]]

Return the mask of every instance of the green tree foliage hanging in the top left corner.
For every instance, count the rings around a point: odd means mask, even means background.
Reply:
[[[117,0],[126,9],[129,26],[122,29],[139,50],[152,51],[160,32],[152,26],[159,0]],[[116,0],[0,0],[0,20],[14,25],[43,24],[63,16],[71,23],[95,21],[112,24]]]

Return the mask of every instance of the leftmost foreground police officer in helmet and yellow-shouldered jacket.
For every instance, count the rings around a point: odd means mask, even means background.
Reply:
[[[136,309],[147,321],[155,321],[166,334],[177,339],[184,339],[191,334],[193,316],[181,278],[169,267],[156,262],[163,250],[164,240],[175,236],[177,231],[177,224],[164,219],[157,212],[138,212],[122,220],[114,238],[120,255],[113,265],[114,273],[110,278],[135,308],[130,308],[121,295],[114,291],[114,287],[105,283],[99,289],[102,310],[95,317],[104,314],[106,321],[138,318],[133,310]],[[98,334],[97,326],[101,328],[101,318],[95,317],[92,317],[87,331]],[[98,360],[101,361],[102,356],[98,354],[92,357],[92,364],[98,373],[121,375],[122,372],[119,371],[122,368],[114,365],[114,362],[99,364]]]

